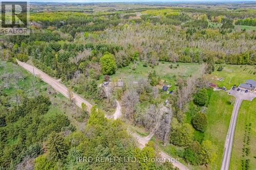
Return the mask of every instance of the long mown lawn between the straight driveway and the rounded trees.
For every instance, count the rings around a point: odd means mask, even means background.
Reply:
[[[209,164],[208,169],[220,169],[224,143],[233,110],[230,104],[234,98],[224,91],[214,91],[211,94],[207,108],[208,126],[204,132],[204,140],[208,139],[216,145],[217,159]]]

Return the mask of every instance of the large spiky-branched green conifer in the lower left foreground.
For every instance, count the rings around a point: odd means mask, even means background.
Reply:
[[[63,136],[54,131],[48,137],[47,149],[53,159],[64,159],[68,154]]]

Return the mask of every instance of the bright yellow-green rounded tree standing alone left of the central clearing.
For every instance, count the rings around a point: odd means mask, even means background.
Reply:
[[[113,75],[116,71],[115,58],[108,53],[100,58],[101,71],[103,75]]]

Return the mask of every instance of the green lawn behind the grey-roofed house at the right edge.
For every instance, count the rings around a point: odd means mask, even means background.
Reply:
[[[224,78],[223,81],[214,80],[214,82],[219,86],[225,86],[230,89],[234,84],[237,86],[240,83],[245,83],[248,79],[256,80],[256,75],[253,72],[256,71],[256,66],[254,65],[225,65],[222,71],[215,70],[213,74],[210,75],[211,79]]]

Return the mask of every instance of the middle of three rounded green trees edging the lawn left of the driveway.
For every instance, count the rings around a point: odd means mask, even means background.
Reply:
[[[197,130],[204,132],[206,130],[206,127],[207,127],[207,117],[206,117],[206,115],[202,112],[198,112],[192,118],[192,124]]]

